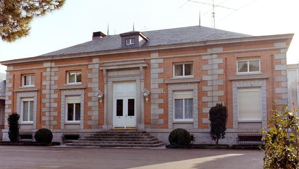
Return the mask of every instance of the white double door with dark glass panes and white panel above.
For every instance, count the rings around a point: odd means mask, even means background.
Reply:
[[[136,126],[136,81],[113,83],[113,127]]]

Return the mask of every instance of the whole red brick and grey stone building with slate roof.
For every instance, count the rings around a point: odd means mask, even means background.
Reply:
[[[202,26],[131,31],[41,56],[2,61],[7,67],[5,129],[51,129],[81,137],[110,129],[144,130],[168,143],[185,128],[195,143],[213,143],[209,109],[228,109],[226,138],[257,133],[272,101],[288,103],[286,51],[293,34],[251,36]]]

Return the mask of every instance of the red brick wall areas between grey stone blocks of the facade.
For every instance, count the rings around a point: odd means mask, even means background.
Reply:
[[[232,51],[232,50],[245,50],[245,49],[255,49],[255,48],[266,48],[273,47],[272,42],[264,42],[261,44],[251,44],[251,45],[234,45],[234,46],[224,46],[223,51]],[[168,49],[155,51],[159,53],[159,57],[165,56],[176,56],[176,55],[189,55],[189,54],[200,54],[205,53],[207,48],[201,47],[192,47],[187,49]],[[227,128],[233,127],[233,102],[232,102],[232,81],[228,80],[229,77],[236,76],[236,58],[242,57],[254,57],[259,56],[261,58],[261,72],[262,75],[267,75],[269,78],[267,81],[267,111],[268,117],[271,116],[270,110],[273,108],[272,100],[281,98],[281,94],[276,94],[275,88],[281,87],[281,82],[275,82],[275,76],[281,76],[280,71],[275,71],[273,66],[275,64],[281,64],[280,60],[273,60],[273,56],[276,53],[280,53],[280,50],[263,50],[263,51],[254,51],[254,52],[233,52],[233,53],[221,53],[218,54],[218,58],[223,58],[223,63],[219,64],[219,69],[224,69],[224,74],[219,75],[219,79],[224,79],[224,85],[219,86],[219,90],[224,90],[224,96],[219,96],[219,101],[223,101],[224,105],[228,108],[228,123]],[[102,62],[107,61],[117,61],[117,60],[131,60],[131,59],[145,59],[148,63],[148,67],[144,69],[145,78],[144,85],[145,88],[150,89],[150,52],[142,53],[131,53],[131,54],[122,54],[122,55],[112,55],[112,56],[101,56],[98,57],[100,61],[100,66]],[[203,75],[207,75],[207,70],[202,70],[202,65],[208,64],[207,60],[202,60],[201,55],[195,56],[181,56],[181,57],[170,57],[163,58],[163,63],[159,64],[160,68],[163,68],[163,73],[159,74],[159,78],[163,78],[164,82],[171,80],[173,77],[173,63],[175,62],[187,62],[192,61],[194,64],[194,79],[202,79]],[[87,78],[88,73],[92,73],[91,69],[88,69],[88,65],[74,65],[74,66],[63,66],[65,64],[79,64],[79,63],[88,63],[92,62],[92,58],[83,58],[83,59],[69,59],[62,61],[55,61],[55,66],[59,65],[59,71],[55,72],[55,76],[59,77],[59,80],[55,81],[55,85],[63,87],[66,84],[66,72],[72,70],[81,70],[82,71],[82,85],[87,87],[88,82],[91,82],[91,79]],[[43,63],[30,63],[30,64],[18,64],[13,65],[14,69],[23,69],[23,68],[34,68],[42,67]],[[61,66],[61,67],[60,67]],[[13,75],[11,82],[13,83],[13,88],[10,88],[10,92],[13,90],[20,89],[22,75],[24,74],[34,74],[35,75],[35,88],[37,91],[37,128],[41,128],[44,125],[44,122],[41,121],[41,117],[45,116],[44,113],[41,113],[42,107],[45,104],[41,104],[41,99],[45,98],[45,94],[41,94],[43,89],[46,89],[42,85],[42,81],[46,80],[46,77],[42,77],[42,72],[46,72],[46,68],[35,68],[28,70],[12,70],[10,75]],[[239,76],[238,76],[239,77]],[[273,83],[274,82],[274,83]],[[198,127],[199,128],[208,128],[208,124],[203,124],[202,119],[207,118],[207,115],[203,114],[202,111],[204,107],[207,107],[207,103],[202,102],[202,97],[207,96],[206,92],[202,92],[202,87],[207,86],[207,81],[201,81],[198,83]],[[159,94],[159,98],[164,99],[164,104],[160,104],[159,108],[164,109],[164,114],[159,115],[159,119],[164,119],[164,124],[160,124],[159,128],[168,128],[168,85],[165,83],[159,84],[159,88],[163,88],[165,93]],[[99,71],[99,90],[104,91],[104,77],[103,71]],[[91,116],[87,115],[87,112],[91,110],[87,106],[87,102],[91,101],[90,97],[87,97],[87,93],[91,92],[90,88],[85,89],[85,98],[84,98],[84,129],[91,129],[90,125],[87,125],[87,121],[91,120]],[[54,129],[60,129],[60,120],[61,120],[61,90],[55,90],[55,93],[58,93],[58,98],[55,98],[55,102],[58,103],[58,107],[54,108],[54,111],[58,111],[58,116],[54,117],[58,123],[55,125]],[[9,108],[12,108],[12,112],[16,112],[16,92],[13,92],[12,96],[9,96],[9,99],[13,100],[13,104],[9,105]],[[105,99],[105,95],[104,95]],[[104,103],[104,102],[103,102]],[[148,103],[144,103],[144,123],[151,124],[151,100],[149,98]],[[104,124],[104,104],[99,104],[99,125]]]

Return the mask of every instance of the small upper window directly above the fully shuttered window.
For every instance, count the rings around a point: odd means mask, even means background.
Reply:
[[[237,59],[236,67],[238,74],[260,73],[261,60],[259,57]]]

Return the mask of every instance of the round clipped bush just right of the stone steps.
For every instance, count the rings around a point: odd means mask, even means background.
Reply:
[[[168,137],[171,145],[178,145],[179,147],[188,146],[191,141],[190,133],[182,128],[174,129]]]

